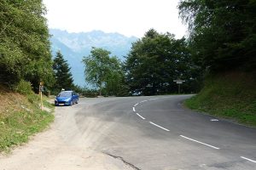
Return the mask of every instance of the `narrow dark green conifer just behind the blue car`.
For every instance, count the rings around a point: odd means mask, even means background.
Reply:
[[[63,58],[61,51],[56,53],[54,59],[53,69],[55,71],[55,90],[60,91],[61,88],[72,89],[74,88],[73,77],[70,72],[70,67],[67,60]]]

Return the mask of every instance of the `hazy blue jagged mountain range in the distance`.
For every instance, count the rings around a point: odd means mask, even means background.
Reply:
[[[50,29],[51,50],[55,56],[61,50],[64,59],[67,60],[73,74],[74,83],[84,87],[84,65],[81,63],[84,56],[90,54],[92,47],[104,48],[119,59],[124,60],[130,49],[131,43],[137,41],[137,37],[125,37],[119,33],[105,33],[103,31],[90,31],[69,33],[57,29]]]

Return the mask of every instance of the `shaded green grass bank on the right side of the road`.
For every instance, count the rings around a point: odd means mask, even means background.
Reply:
[[[256,127],[256,80],[253,73],[207,77],[201,93],[185,101],[190,109]]]

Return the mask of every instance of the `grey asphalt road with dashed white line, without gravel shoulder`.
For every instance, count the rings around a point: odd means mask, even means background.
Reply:
[[[80,99],[79,135],[68,140],[83,138],[134,169],[255,170],[256,129],[189,111],[189,97]]]

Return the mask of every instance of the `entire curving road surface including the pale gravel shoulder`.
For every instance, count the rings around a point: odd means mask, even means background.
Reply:
[[[80,99],[0,170],[255,170],[256,129],[184,109],[191,95]]]

